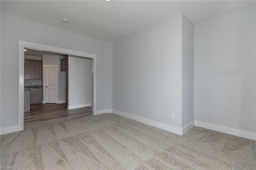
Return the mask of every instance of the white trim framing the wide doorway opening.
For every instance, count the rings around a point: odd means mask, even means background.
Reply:
[[[48,51],[61,53],[65,55],[76,55],[79,57],[92,59],[92,78],[93,78],[93,99],[92,99],[92,115],[96,114],[96,54],[75,51],[72,49],[65,49],[60,47],[54,47],[50,45],[44,45],[40,43],[26,42],[18,40],[19,46],[19,93],[18,93],[18,131],[24,130],[24,48],[35,49],[40,51]]]

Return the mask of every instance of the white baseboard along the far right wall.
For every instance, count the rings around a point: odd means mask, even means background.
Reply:
[[[200,122],[200,121],[195,121],[195,126],[202,127],[202,128],[208,128],[211,130],[216,130],[218,132],[223,132],[223,133],[227,133],[227,134],[232,134],[232,135],[239,136],[242,138],[256,140],[256,133],[239,130],[236,128],[224,127],[221,125],[215,125],[215,124]]]

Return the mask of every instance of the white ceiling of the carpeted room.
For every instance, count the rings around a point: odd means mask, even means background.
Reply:
[[[102,41],[115,41],[183,12],[198,24],[255,1],[2,1],[1,12]],[[68,24],[61,22],[67,18]]]

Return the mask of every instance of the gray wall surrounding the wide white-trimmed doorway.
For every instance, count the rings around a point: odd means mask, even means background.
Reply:
[[[1,128],[18,125],[18,40],[96,54],[97,79],[101,81],[97,84],[96,110],[112,109],[111,42],[1,13]]]

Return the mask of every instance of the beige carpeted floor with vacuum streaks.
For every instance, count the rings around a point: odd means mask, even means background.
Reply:
[[[18,169],[256,169],[256,141],[193,127],[179,136],[114,114],[1,135]]]

